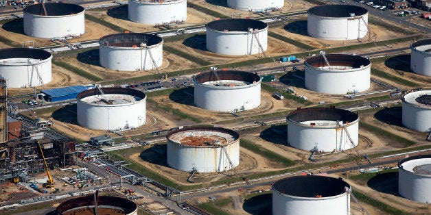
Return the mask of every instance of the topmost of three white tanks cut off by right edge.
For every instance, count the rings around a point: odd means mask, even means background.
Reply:
[[[419,75],[431,76],[431,39],[413,42],[410,49],[410,69]]]

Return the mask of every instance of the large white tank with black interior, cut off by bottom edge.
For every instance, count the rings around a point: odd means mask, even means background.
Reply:
[[[301,175],[272,184],[272,214],[350,214],[351,187],[341,178]]]

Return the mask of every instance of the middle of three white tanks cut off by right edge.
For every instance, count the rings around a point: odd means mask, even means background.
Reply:
[[[405,94],[402,102],[404,126],[421,132],[431,129],[431,90]]]

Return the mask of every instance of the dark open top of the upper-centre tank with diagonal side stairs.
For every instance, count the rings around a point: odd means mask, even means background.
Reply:
[[[262,21],[249,18],[228,18],[211,21],[207,27],[216,31],[244,31],[248,32],[249,28],[265,29],[268,25]]]

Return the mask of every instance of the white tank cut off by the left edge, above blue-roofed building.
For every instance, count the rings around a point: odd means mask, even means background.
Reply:
[[[42,49],[0,49],[0,76],[7,81],[8,88],[48,84],[52,79],[51,60],[51,53]]]

